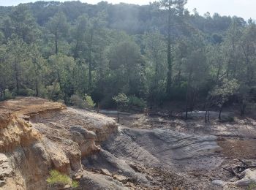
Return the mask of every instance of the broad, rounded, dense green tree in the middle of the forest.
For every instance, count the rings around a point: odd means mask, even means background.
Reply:
[[[122,91],[142,97],[145,93],[145,72],[140,47],[127,39],[110,47],[108,58],[113,75],[113,86],[110,90],[116,94]]]

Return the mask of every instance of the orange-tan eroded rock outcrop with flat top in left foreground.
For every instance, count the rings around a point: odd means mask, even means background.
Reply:
[[[81,159],[114,132],[111,118],[61,103],[32,97],[1,102],[0,189],[46,189],[50,170],[83,170]]]

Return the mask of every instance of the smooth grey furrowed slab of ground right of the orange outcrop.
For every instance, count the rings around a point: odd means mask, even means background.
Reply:
[[[102,148],[124,160],[160,167],[208,169],[221,163],[215,153],[219,149],[217,137],[169,129],[120,127],[119,133],[107,140]]]

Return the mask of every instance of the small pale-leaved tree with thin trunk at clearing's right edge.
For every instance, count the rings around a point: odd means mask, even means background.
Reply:
[[[223,105],[228,101],[230,96],[233,96],[238,91],[239,84],[236,79],[227,80],[224,79],[221,86],[216,86],[211,92],[214,104],[219,107],[219,120],[221,120],[221,114]]]

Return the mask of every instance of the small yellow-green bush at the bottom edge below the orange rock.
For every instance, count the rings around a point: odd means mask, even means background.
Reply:
[[[68,175],[64,175],[57,170],[51,170],[50,176],[46,181],[50,184],[61,184],[63,186],[69,185],[73,188],[77,188],[79,186],[78,181],[72,180]]]

